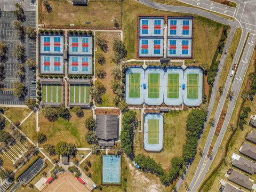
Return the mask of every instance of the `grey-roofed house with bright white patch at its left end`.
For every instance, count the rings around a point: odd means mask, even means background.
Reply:
[[[241,169],[249,174],[253,174],[256,172],[256,164],[254,164],[249,159],[241,157],[235,153],[232,154],[231,158],[231,164],[233,166],[236,166],[238,169]]]

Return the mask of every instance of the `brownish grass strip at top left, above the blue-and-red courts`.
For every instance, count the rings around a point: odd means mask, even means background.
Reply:
[[[73,6],[71,1],[50,0],[49,3],[52,6],[50,13],[42,6],[41,19],[46,26],[73,23],[76,27],[114,27],[113,18],[119,25],[121,23],[121,2],[90,1],[88,6]]]

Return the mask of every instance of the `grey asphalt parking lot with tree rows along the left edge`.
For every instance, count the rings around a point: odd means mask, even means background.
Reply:
[[[26,21],[22,23],[23,26],[32,26],[35,28],[35,4],[32,4],[31,1],[1,1],[0,9],[2,10],[2,17],[0,20],[0,39],[8,47],[8,60],[4,63],[4,72],[5,72],[5,81],[3,82],[3,89],[0,91],[0,105],[24,105],[25,100],[19,100],[14,97],[13,83],[19,81],[19,78],[15,76],[17,67],[15,63],[17,60],[15,58],[13,50],[15,45],[19,42],[19,39],[16,37],[16,31],[12,28],[12,21],[15,20],[14,10],[15,3],[21,3],[26,15]],[[36,58],[36,46],[35,41],[29,40],[26,38],[25,42],[22,43],[26,49],[27,58],[34,59]],[[27,97],[26,98],[36,98],[36,84],[33,84],[35,80],[35,72],[30,70],[25,66],[26,80],[23,84],[27,87]]]

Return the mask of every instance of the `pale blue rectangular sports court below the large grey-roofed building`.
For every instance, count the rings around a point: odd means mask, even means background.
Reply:
[[[102,184],[121,183],[121,156],[102,155]]]

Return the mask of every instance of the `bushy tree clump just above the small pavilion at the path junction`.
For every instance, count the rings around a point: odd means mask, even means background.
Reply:
[[[76,145],[67,143],[65,141],[59,141],[55,146],[55,151],[58,155],[71,155],[75,156],[77,149]]]

